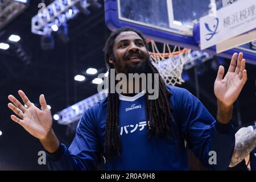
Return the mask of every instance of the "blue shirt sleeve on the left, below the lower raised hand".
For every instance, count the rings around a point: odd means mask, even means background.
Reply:
[[[76,136],[71,146],[63,143],[53,154],[47,154],[47,165],[50,170],[95,170],[100,163],[100,142],[96,127],[88,109],[82,115],[77,126]]]

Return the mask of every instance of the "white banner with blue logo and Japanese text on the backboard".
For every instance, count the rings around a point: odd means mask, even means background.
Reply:
[[[200,18],[201,50],[256,28],[256,1],[232,3],[218,10],[216,15]]]

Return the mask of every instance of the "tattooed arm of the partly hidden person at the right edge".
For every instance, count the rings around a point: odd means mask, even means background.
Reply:
[[[240,163],[256,147],[256,130],[251,126],[242,127],[236,133],[236,146],[229,167],[234,167]]]

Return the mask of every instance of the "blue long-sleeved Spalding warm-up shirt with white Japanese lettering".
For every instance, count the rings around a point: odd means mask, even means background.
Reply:
[[[188,170],[187,147],[208,169],[228,168],[235,144],[233,125],[217,122],[187,90],[167,88],[172,93],[170,101],[176,124],[171,122],[171,126],[176,142],[172,136],[148,138],[143,93],[134,97],[119,94],[121,157],[115,155],[111,162],[106,160],[106,170]],[[105,146],[107,107],[105,98],[85,111],[71,146],[67,148],[61,143],[54,154],[48,154],[49,169],[96,169]],[[216,164],[209,163],[214,161],[210,151],[216,152]]]

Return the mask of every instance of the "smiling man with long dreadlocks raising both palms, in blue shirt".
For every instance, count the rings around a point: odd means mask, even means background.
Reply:
[[[11,115],[11,119],[40,140],[48,152],[50,169],[93,170],[103,155],[107,170],[187,170],[189,147],[208,169],[225,170],[235,142],[230,123],[233,103],[247,79],[242,58],[242,53],[234,53],[224,78],[224,67],[218,69],[214,82],[216,119],[191,93],[166,86],[160,77],[152,79],[152,84],[159,82],[156,99],[150,99],[148,90],[142,88],[138,94],[111,93],[109,84],[108,97],[85,111],[69,148],[52,130],[43,94],[39,98],[42,110],[32,105],[22,90],[18,93],[27,108],[10,95],[13,104],[8,106],[19,117]],[[112,32],[105,45],[105,61],[115,70],[114,76],[158,73],[143,35],[128,27]],[[112,76],[109,74],[109,81]],[[129,85],[133,80],[127,81]]]

